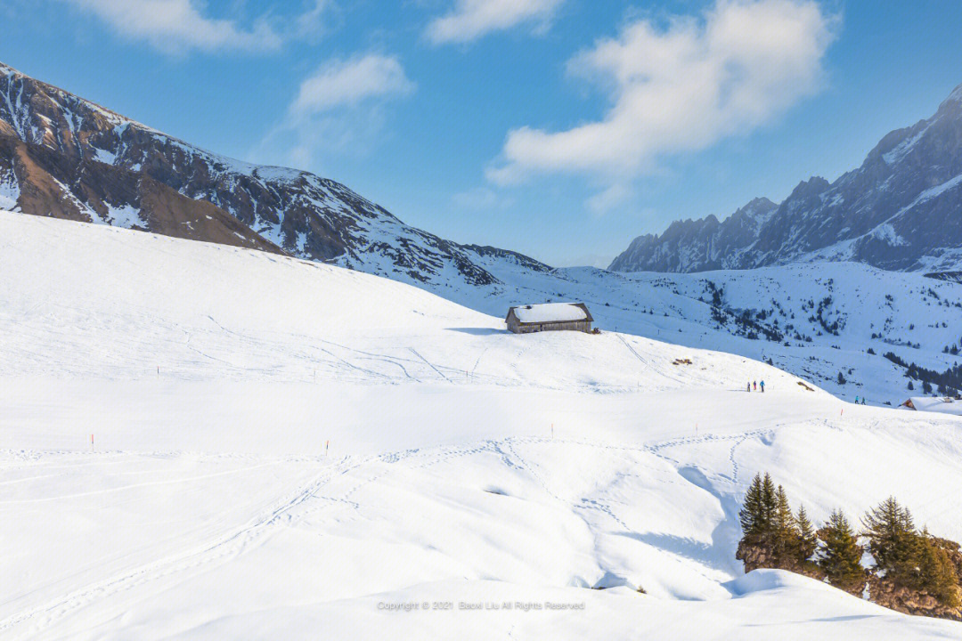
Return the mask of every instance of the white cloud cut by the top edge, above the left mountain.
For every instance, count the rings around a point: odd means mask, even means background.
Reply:
[[[319,30],[329,8],[326,0],[313,0],[290,21],[262,17],[244,28],[236,20],[204,15],[203,4],[195,0],[62,1],[92,13],[121,37],[145,40],[167,53],[275,50],[291,37],[307,37]]]

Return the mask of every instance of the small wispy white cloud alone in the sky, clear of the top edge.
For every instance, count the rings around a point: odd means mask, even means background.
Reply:
[[[320,113],[372,98],[405,95],[414,89],[396,58],[367,54],[322,64],[301,83],[290,111],[295,116]]]

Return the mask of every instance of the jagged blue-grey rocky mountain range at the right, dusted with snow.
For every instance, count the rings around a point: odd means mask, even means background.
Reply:
[[[635,238],[610,268],[698,272],[825,259],[899,271],[962,267],[962,85],[834,183],[811,178],[778,206],[756,199],[721,222],[672,223]]]

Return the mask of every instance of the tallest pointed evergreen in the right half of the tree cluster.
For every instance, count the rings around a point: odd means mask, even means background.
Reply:
[[[919,533],[908,508],[889,497],[867,512],[862,524],[878,569],[903,584],[916,582]]]

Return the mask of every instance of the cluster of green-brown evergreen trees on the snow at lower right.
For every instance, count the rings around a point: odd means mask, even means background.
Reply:
[[[866,512],[861,532],[840,509],[816,530],[804,507],[792,509],[784,487],[757,474],[739,520],[744,535],[735,557],[746,572],[789,570],[901,612],[962,620],[959,545],[919,530],[895,498]]]

